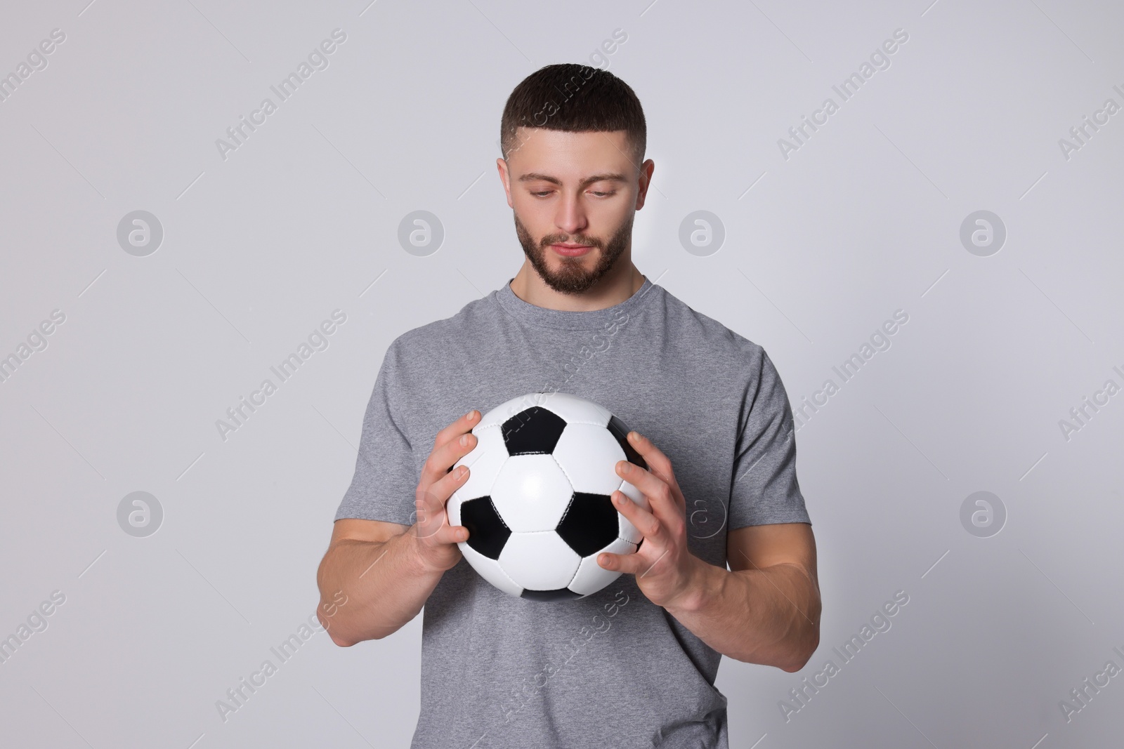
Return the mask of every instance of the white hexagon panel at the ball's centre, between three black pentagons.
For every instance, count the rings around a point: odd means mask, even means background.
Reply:
[[[549,455],[508,458],[491,490],[500,517],[516,532],[553,531],[572,494],[570,479]]]

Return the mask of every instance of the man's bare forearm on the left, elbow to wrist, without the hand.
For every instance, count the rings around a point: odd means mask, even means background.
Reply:
[[[420,565],[415,544],[411,527],[381,544],[343,539],[325,555],[316,613],[333,642],[377,640],[417,616],[443,573]],[[339,591],[346,604],[339,605]]]

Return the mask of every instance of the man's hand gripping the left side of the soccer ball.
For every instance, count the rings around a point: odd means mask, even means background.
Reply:
[[[450,468],[477,446],[472,427],[479,421],[480,412],[473,409],[437,432],[433,451],[422,468],[414,499],[417,521],[409,533],[417,541],[418,561],[426,570],[444,572],[460,561],[456,544],[469,538],[464,526],[448,524],[445,503],[468,481],[468,466]]]

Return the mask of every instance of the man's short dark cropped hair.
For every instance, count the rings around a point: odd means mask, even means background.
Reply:
[[[644,109],[632,88],[608,71],[574,63],[541,67],[511,91],[500,120],[505,159],[515,149],[518,127],[568,133],[626,130],[637,168],[647,146]]]

